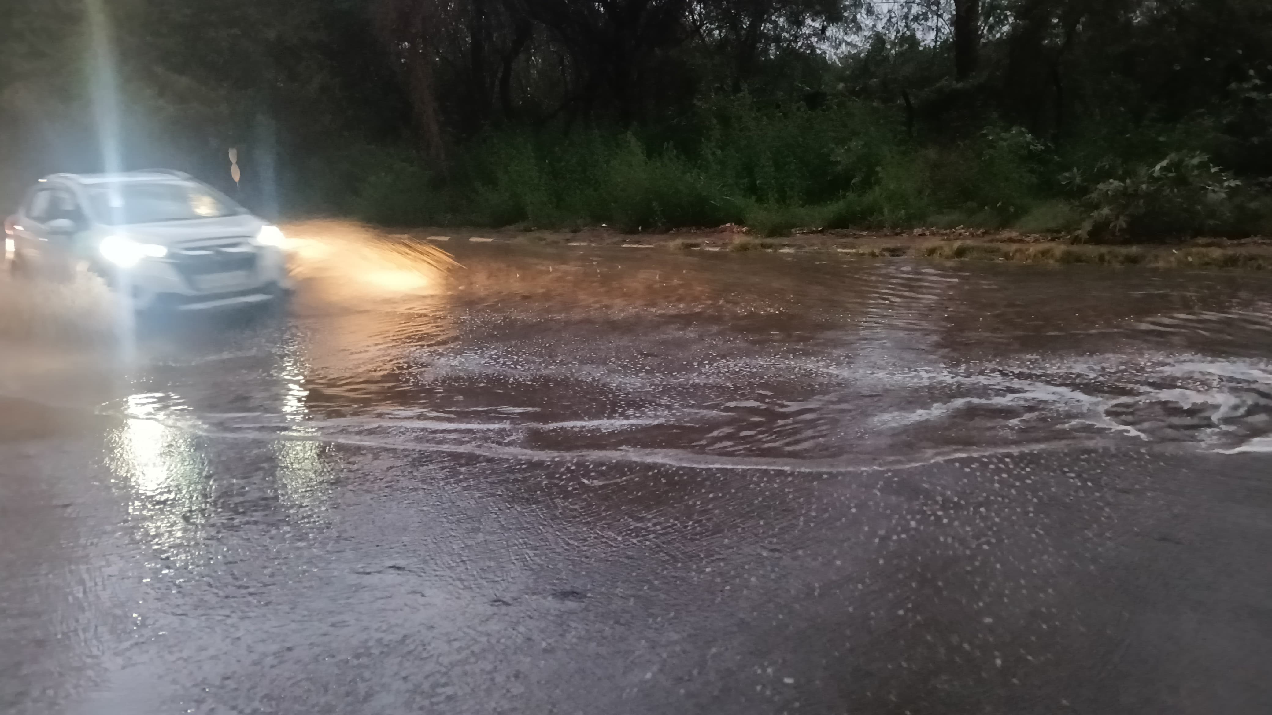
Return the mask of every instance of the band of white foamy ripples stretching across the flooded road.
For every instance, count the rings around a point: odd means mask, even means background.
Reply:
[[[472,358],[460,354],[450,360],[471,369],[476,366]],[[502,361],[495,360],[496,365]],[[533,421],[528,417],[541,408],[513,406],[445,411],[401,407],[338,417],[310,411],[300,420],[265,412],[195,415],[174,410],[176,405],[146,415],[116,415],[164,420],[169,426],[212,436],[304,439],[550,462],[784,472],[898,468],[1057,445],[1107,447],[1110,440],[1124,439],[1140,445],[1184,443],[1191,449],[1224,454],[1272,450],[1272,397],[1264,394],[1272,387],[1272,364],[1261,360],[1109,354],[850,370],[832,360],[730,358],[697,363],[691,373],[668,375],[625,373],[613,365],[608,373],[600,366],[565,369],[537,365],[533,358],[524,356],[522,361],[516,371],[523,375],[543,375],[541,368],[547,368],[552,374],[569,373],[574,380],[621,387],[616,407],[609,415],[558,421]],[[722,370],[724,365],[731,369]],[[506,370],[490,368],[487,363],[480,369],[487,374]],[[799,374],[798,384],[806,389],[798,399],[780,399],[757,389],[789,380],[792,374]],[[700,379],[711,377],[715,379]],[[681,385],[693,389],[684,392],[678,389]],[[721,399],[720,385],[738,397],[764,397]],[[871,399],[861,402],[862,394]],[[893,405],[921,402],[913,408],[874,415],[857,408],[878,405],[875,398]],[[645,406],[632,410],[633,401]],[[977,413],[976,422],[963,419],[967,410],[996,407],[1009,412]],[[691,430],[688,436],[684,431],[640,431],[659,425],[702,430]],[[623,434],[627,430],[630,435]],[[520,445],[537,431],[565,433],[565,439],[576,433],[577,449]],[[488,436],[474,440],[476,435]]]

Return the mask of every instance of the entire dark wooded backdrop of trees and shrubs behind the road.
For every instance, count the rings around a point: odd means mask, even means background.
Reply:
[[[1272,229],[1267,0],[10,5],[9,204],[108,136],[232,191],[238,148],[249,206],[384,224]]]

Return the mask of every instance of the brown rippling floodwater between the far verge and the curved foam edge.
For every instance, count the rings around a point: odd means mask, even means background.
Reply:
[[[151,337],[104,410],[209,434],[771,469],[1269,444],[1258,275],[483,248],[422,291],[332,299],[345,277],[314,277],[290,318]]]

